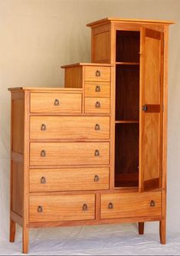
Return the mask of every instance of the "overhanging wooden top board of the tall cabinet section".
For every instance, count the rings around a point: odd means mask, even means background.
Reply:
[[[133,19],[133,18],[103,18],[98,21],[93,21],[87,24],[87,27],[96,27],[108,22],[119,22],[119,23],[143,23],[143,24],[159,24],[159,25],[171,25],[175,21],[157,21],[157,20],[143,20],[143,19]]]

